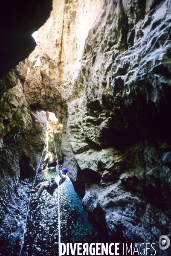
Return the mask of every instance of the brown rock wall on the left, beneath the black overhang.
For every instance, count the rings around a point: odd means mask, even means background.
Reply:
[[[1,198],[9,197],[20,177],[34,173],[46,137],[46,113],[31,110],[23,94],[19,77],[24,77],[24,65],[20,63],[1,80]]]

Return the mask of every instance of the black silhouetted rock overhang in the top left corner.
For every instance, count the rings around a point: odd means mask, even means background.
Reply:
[[[7,0],[1,3],[0,76],[14,68],[35,49],[32,33],[46,22],[52,0]]]

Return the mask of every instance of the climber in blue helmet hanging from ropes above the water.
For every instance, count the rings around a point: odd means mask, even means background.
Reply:
[[[59,166],[58,166],[59,167]],[[53,195],[54,189],[58,187],[58,181],[59,181],[59,186],[67,179],[66,173],[68,172],[67,168],[63,168],[62,172],[59,169],[59,176],[56,178],[52,178],[51,181],[44,181],[38,184],[34,189],[32,190],[27,190],[28,193],[36,193],[36,196],[33,199],[39,199],[41,197],[41,194],[44,189],[49,192],[50,195]]]

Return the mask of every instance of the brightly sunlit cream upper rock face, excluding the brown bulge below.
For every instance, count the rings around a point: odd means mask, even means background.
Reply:
[[[38,30],[38,52],[50,79],[61,85],[62,99],[72,95],[71,87],[81,67],[85,39],[96,20],[103,0],[54,0],[51,16]],[[52,72],[52,66],[56,69]],[[69,89],[67,90],[67,88]]]

